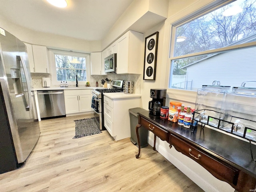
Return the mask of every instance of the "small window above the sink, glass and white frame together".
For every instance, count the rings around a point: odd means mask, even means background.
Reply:
[[[60,50],[49,50],[54,84],[60,84],[61,81],[67,81],[68,84],[85,84],[90,77],[88,72],[89,55]]]

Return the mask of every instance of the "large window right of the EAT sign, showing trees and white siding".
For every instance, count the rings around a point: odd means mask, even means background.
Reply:
[[[171,24],[168,88],[172,92],[196,91],[213,82],[241,86],[256,80],[256,1],[229,0],[208,7]]]

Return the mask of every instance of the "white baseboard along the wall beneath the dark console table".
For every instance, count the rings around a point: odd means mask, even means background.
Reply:
[[[148,137],[148,144],[150,144],[150,146],[154,146],[154,139]],[[172,147],[172,148],[174,148],[174,147]],[[206,191],[206,192],[224,192],[224,190],[227,191],[227,188],[228,188],[228,191],[232,191],[232,192],[234,191],[234,189],[227,183],[226,184],[224,183],[225,189],[223,189],[223,190],[219,190],[216,187],[214,187],[213,184],[209,183],[207,180],[205,180],[198,174],[198,172],[200,172],[200,171],[195,172],[190,167],[188,167],[186,164],[182,163],[178,158],[173,156],[170,153],[170,151],[168,151],[168,150],[172,150],[172,149],[170,149],[170,148],[166,149],[165,147],[161,146],[158,142],[156,142],[156,150],[162,156],[164,156],[168,161],[170,161],[174,166],[176,166],[176,168],[178,168],[181,172],[183,172],[186,176],[188,176],[188,178],[190,178],[195,184],[197,184],[204,191]],[[191,161],[193,161],[193,160],[191,160]],[[200,166],[199,168],[204,169],[202,166]],[[220,181],[220,183],[221,183],[221,185],[223,184],[222,181]]]

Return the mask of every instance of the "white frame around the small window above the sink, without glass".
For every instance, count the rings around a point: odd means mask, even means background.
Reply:
[[[76,56],[76,57],[84,57],[86,60],[86,81],[79,81],[79,85],[86,85],[86,82],[90,82],[90,54],[72,52],[72,51],[63,51],[63,50],[55,50],[49,49],[49,60],[51,66],[51,74],[52,74],[52,84],[59,85],[60,81],[57,80],[56,75],[56,63],[55,63],[55,54],[66,55],[66,56]],[[75,85],[76,81],[67,81],[69,85]]]

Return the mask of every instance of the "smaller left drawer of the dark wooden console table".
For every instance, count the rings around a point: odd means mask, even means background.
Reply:
[[[163,130],[162,128],[156,126],[155,124],[148,122],[144,118],[140,118],[140,124],[144,126],[146,129],[156,134],[156,136],[158,136],[160,139],[168,141],[169,132],[167,132],[166,130]]]

